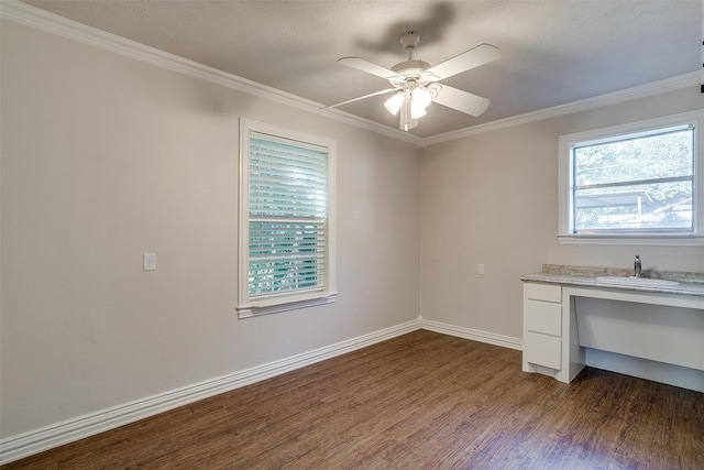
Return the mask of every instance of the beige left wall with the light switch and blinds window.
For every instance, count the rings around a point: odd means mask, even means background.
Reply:
[[[1,26],[1,437],[418,317],[414,145]],[[336,304],[237,318],[240,117],[337,140]]]

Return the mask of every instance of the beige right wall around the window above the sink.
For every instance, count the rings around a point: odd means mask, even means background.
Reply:
[[[543,263],[704,272],[704,249],[564,245],[558,138],[704,108],[698,87],[429,146],[422,157],[421,315],[520,338],[520,275]],[[477,274],[477,264],[485,275]]]

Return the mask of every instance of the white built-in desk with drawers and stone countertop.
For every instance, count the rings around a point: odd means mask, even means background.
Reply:
[[[603,275],[624,273],[544,265],[521,276],[522,370],[569,383],[593,365],[704,392],[704,275],[674,273],[674,286]]]

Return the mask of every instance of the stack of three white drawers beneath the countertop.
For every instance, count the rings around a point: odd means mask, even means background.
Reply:
[[[525,283],[524,371],[558,378],[562,369],[562,287]]]

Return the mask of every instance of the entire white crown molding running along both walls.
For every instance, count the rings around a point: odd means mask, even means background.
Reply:
[[[419,147],[462,139],[483,132],[520,125],[528,122],[543,119],[557,118],[573,112],[585,111],[615,105],[638,98],[646,98],[668,91],[700,86],[704,83],[704,72],[692,72],[689,74],[666,78],[625,90],[614,91],[597,97],[586,98],[565,105],[556,106],[525,114],[499,119],[470,128],[459,129],[428,138],[404,132],[402,130],[380,124],[370,119],[360,118],[339,109],[321,109],[323,105],[311,101],[299,96],[258,84],[246,78],[199,64],[194,61],[169,54],[167,52],[147,46],[145,44],[131,41],[117,34],[108,33],[92,26],[87,26],[77,21],[68,20],[57,14],[23,3],[19,0],[0,0],[0,18],[7,19],[30,28],[44,32],[57,34],[85,44],[92,45],[106,51],[110,51],[127,57],[142,61],[158,67],[167,68],[195,78],[207,80],[223,87],[246,92],[258,98],[275,101],[285,106],[290,106],[326,118],[334,119],[346,124],[355,125],[367,131],[391,136],[404,142],[415,144]]]

